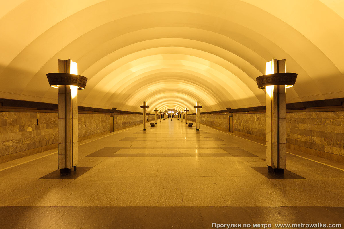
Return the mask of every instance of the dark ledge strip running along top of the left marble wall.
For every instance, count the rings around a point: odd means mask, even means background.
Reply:
[[[54,103],[41,103],[41,102],[32,102],[25,100],[12,100],[12,99],[0,99],[1,108],[35,108],[40,111],[57,111],[58,104]],[[78,111],[84,112],[94,112],[94,113],[119,113],[119,114],[141,114],[142,112],[133,112],[133,111],[119,111],[116,108],[112,109],[103,109],[103,108],[94,108],[86,106],[78,106]],[[148,113],[148,115],[152,115]]]

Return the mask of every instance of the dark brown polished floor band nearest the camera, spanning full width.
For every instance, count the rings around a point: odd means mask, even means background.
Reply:
[[[214,228],[214,223],[342,227],[344,207],[0,207],[0,228],[202,229]]]

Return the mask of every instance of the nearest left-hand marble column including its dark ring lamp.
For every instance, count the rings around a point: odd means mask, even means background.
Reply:
[[[85,89],[87,78],[71,59],[58,60],[58,72],[46,76],[58,88],[58,169],[70,173],[78,165],[78,89]]]

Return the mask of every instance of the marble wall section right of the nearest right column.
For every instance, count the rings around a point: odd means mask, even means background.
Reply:
[[[287,148],[344,162],[344,111],[286,113]]]

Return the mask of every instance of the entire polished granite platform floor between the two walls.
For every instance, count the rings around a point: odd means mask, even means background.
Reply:
[[[67,176],[56,149],[0,164],[0,228],[344,224],[340,163],[288,151],[269,174],[264,142],[175,118],[79,143]]]

